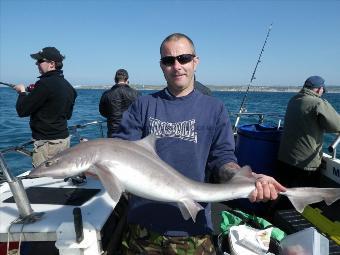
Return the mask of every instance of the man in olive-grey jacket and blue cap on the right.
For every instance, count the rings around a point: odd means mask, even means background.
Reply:
[[[325,80],[311,76],[288,103],[277,169],[286,187],[320,185],[324,133],[340,132],[340,115],[321,98],[325,91]]]

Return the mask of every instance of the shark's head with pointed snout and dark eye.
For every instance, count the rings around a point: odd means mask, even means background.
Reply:
[[[29,176],[65,178],[79,175],[90,168],[93,159],[94,156],[91,153],[78,153],[75,146],[46,160],[33,169]]]

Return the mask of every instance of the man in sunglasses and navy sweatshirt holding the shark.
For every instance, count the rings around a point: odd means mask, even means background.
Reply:
[[[169,35],[160,47],[160,67],[167,87],[139,98],[123,115],[114,137],[139,140],[149,134],[157,140],[157,154],[181,174],[206,181],[205,166],[219,182],[227,182],[240,166],[234,155],[234,138],[222,102],[194,89],[199,63],[192,40],[184,34]],[[249,199],[274,200],[285,188],[269,176],[257,175]],[[172,185],[172,183],[169,183]],[[129,201],[125,254],[215,254],[211,207],[201,203],[196,222],[184,220],[173,203],[132,196]]]

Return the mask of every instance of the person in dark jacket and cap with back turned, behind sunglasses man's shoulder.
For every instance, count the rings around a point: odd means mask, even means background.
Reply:
[[[115,83],[111,89],[103,93],[99,103],[100,114],[107,118],[107,137],[118,131],[123,112],[140,95],[128,85],[129,74],[125,69],[117,70]]]

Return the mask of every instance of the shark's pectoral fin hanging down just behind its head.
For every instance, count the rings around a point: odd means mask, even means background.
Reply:
[[[115,203],[118,203],[122,193],[124,192],[123,185],[118,178],[109,171],[106,166],[96,164],[96,175],[103,184],[105,190],[110,195]]]

